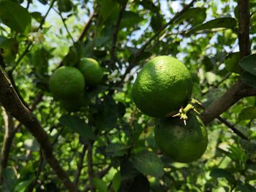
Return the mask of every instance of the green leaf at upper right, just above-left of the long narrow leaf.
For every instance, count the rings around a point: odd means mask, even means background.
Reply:
[[[196,7],[187,9],[179,18],[178,21],[186,20],[192,26],[199,25],[206,20],[206,8]]]

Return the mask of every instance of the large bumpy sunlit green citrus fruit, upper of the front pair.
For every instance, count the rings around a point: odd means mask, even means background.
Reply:
[[[176,58],[158,56],[148,61],[132,86],[138,109],[154,118],[174,115],[192,94],[192,77]]]

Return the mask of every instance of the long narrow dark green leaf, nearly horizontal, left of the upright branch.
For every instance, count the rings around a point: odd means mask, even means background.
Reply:
[[[234,19],[234,18],[217,18],[214,20],[210,20],[206,23],[203,23],[200,26],[192,28],[192,30],[189,31],[189,34],[195,32],[195,31],[202,31],[202,30],[206,30],[206,29],[234,28],[235,26],[236,26],[236,19]]]

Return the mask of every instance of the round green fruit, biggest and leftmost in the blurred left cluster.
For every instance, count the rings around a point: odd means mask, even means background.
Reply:
[[[83,94],[83,74],[73,66],[61,66],[50,77],[50,92],[56,99],[74,99]]]

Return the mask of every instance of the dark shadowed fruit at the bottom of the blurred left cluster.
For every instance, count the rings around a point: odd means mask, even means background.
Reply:
[[[68,112],[78,112],[82,107],[86,107],[89,104],[89,97],[83,94],[78,99],[61,100],[60,104]]]

